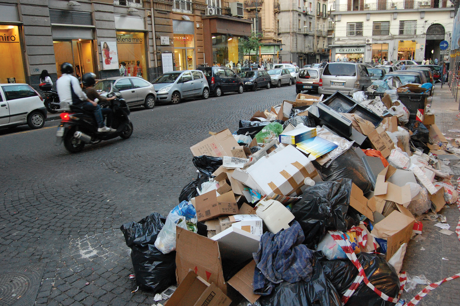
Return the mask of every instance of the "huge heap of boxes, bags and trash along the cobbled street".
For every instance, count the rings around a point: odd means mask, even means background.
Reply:
[[[428,94],[322,98],[299,94],[190,148],[198,176],[166,220],[121,226],[141,289],[166,306],[404,304],[407,243],[457,200],[459,145]]]

